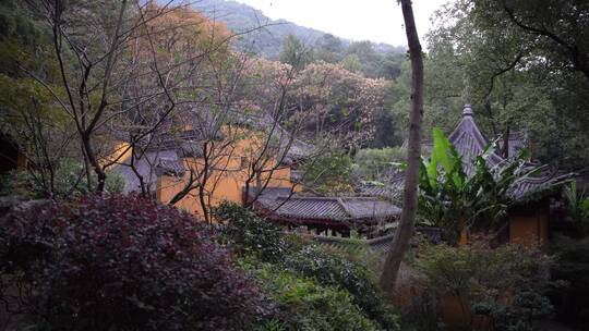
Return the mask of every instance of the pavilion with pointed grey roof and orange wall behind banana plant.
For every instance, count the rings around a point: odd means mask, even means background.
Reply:
[[[461,156],[464,169],[467,175],[471,174],[477,156],[482,155],[491,143],[479,130],[472,108],[466,105],[462,118],[456,128],[448,136],[458,155]],[[500,156],[498,150],[488,152],[485,161],[490,167],[501,167],[513,162],[515,157],[525,146],[521,134],[509,136],[508,158]],[[501,149],[501,144],[500,148]],[[431,143],[422,145],[422,152],[429,155],[432,150]],[[539,164],[529,164],[538,167]],[[534,176],[527,176],[517,181],[509,189],[514,204],[507,210],[506,222],[497,229],[498,242],[512,243],[545,243],[549,240],[551,221],[556,219],[554,208],[558,205],[558,185],[565,183],[569,174],[560,174],[555,169],[545,168]],[[399,193],[404,186],[404,173],[398,172],[389,176],[385,186],[364,186],[360,191],[364,195],[392,196]],[[466,240],[466,238],[465,238]]]

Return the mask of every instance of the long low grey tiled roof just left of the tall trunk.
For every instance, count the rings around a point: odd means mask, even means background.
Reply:
[[[254,206],[286,221],[375,221],[395,219],[400,214],[398,207],[378,198],[310,197],[291,194],[290,188],[280,187],[266,187]]]

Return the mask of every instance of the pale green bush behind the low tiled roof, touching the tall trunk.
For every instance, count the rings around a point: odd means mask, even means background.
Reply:
[[[402,147],[363,148],[353,157],[354,174],[364,181],[380,181],[387,171],[405,161]]]

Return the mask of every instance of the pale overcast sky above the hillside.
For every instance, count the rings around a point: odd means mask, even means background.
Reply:
[[[352,40],[407,45],[397,0],[237,0],[264,12]],[[413,0],[420,37],[431,28],[430,16],[447,0]]]

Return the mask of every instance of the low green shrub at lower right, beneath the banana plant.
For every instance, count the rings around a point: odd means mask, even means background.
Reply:
[[[492,318],[497,330],[533,330],[532,322],[552,314],[546,293],[553,259],[534,248],[505,245],[429,246],[417,267],[441,295],[468,298],[474,314]]]

